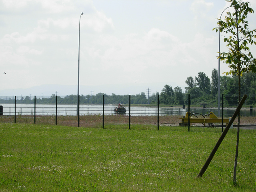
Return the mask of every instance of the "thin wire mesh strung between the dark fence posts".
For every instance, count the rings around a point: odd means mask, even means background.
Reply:
[[[190,103],[190,112],[206,115],[213,112],[219,118],[222,115],[222,111],[218,110],[218,98],[216,96],[210,99],[209,103],[202,102],[196,103],[198,96],[192,96],[194,100]],[[226,97],[228,98],[228,97]],[[178,126],[181,122],[181,117],[186,115],[188,112],[188,105],[186,104],[186,98],[184,98],[184,105],[163,105],[160,103],[159,111],[157,107],[157,100],[144,100],[139,101],[136,97],[129,96],[104,96],[104,104],[102,95],[98,96],[80,96],[80,126],[83,127],[102,127],[104,124],[108,126],[110,124],[141,124],[141,125],[152,125],[152,126]],[[57,101],[57,102],[56,102]],[[129,110],[129,102],[131,107]],[[194,103],[193,103],[194,102]],[[49,125],[67,125],[77,126],[78,125],[78,108],[77,108],[77,96],[44,96],[44,97],[0,97],[0,106],[2,106],[2,115],[0,110],[0,123],[16,122],[16,123],[34,123],[36,118],[37,124],[49,124]],[[126,108],[125,114],[116,114],[114,109],[119,103],[124,104]],[[137,104],[138,103],[138,104]],[[149,103],[149,104],[147,104]],[[251,102],[250,102],[251,103]],[[253,108],[248,102],[243,105],[240,111],[241,120],[240,125],[244,130],[256,130],[256,109]],[[57,108],[56,108],[57,106]],[[104,108],[104,111],[103,111]],[[224,100],[224,118],[230,118],[236,107],[229,105]],[[34,114],[36,112],[36,114]],[[159,113],[159,117],[158,117]],[[220,114],[219,114],[220,113]],[[104,114],[104,118],[103,118]],[[129,114],[131,115],[129,117]],[[218,115],[219,114],[219,115]],[[15,118],[15,119],[14,119]],[[104,119],[104,121],[103,121]],[[237,118],[233,124],[233,129],[236,129]],[[191,124],[193,126],[203,126],[203,124]],[[221,124],[215,123],[215,128],[220,129]],[[225,124],[224,124],[225,127]],[[185,129],[185,128],[184,128]]]

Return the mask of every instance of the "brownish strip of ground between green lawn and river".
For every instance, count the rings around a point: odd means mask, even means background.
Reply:
[[[178,126],[181,122],[178,115],[172,116],[131,116],[131,124],[139,124],[144,126],[157,126],[159,121],[159,126]],[[92,127],[92,128],[102,128],[103,127],[103,116],[98,115],[81,115],[80,118],[81,127]],[[14,116],[0,116],[0,123],[14,123]],[[78,126],[78,117],[77,116],[35,116],[34,115],[16,115],[16,123],[26,123],[26,124],[46,124],[46,125],[57,125],[62,126]],[[113,114],[113,115],[104,115],[104,125],[127,125],[129,124],[129,116]],[[240,118],[241,125],[254,125],[255,117],[250,116],[241,116]],[[219,125],[220,124],[215,124]],[[237,118],[234,121],[234,125],[237,125]],[[191,126],[202,126],[202,124],[191,124]],[[226,124],[224,124],[224,127]],[[256,128],[255,128],[256,129]]]

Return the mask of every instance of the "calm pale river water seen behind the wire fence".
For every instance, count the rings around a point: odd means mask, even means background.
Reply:
[[[0,104],[3,106],[3,115],[14,115],[15,107],[14,104]],[[111,115],[114,113],[114,105],[104,105],[104,115]],[[129,115],[129,106],[125,106]],[[188,108],[159,108],[159,116],[169,116],[169,115],[180,115],[185,116]],[[225,108],[224,117],[231,117],[234,114],[235,108]],[[217,108],[190,108],[190,112],[199,113],[202,115],[209,114],[213,112],[218,116]],[[91,115],[91,114],[103,114],[102,105],[80,105],[79,110],[80,115]],[[255,116],[255,109],[242,109],[241,115],[244,116]],[[55,104],[36,104],[36,115],[55,115],[56,105]],[[157,116],[157,107],[131,107],[132,116]],[[220,111],[221,114],[221,111]],[[16,115],[34,115],[34,104],[16,104]],[[57,115],[77,115],[77,105],[67,105],[58,104],[57,105]]]

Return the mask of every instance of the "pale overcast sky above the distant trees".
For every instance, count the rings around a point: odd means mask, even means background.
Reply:
[[[218,70],[219,36],[212,29],[228,6],[225,0],[0,0],[0,94],[35,86],[44,94],[45,85],[77,94],[80,16],[80,95],[152,94],[166,84],[185,92],[187,77],[204,72],[211,79]],[[256,14],[247,20],[256,29]],[[220,74],[228,70],[221,62]]]

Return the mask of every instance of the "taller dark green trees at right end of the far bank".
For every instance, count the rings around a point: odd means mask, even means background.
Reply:
[[[204,73],[198,72],[193,78],[186,79],[185,92],[180,87],[165,85],[160,94],[161,104],[183,105],[188,104],[190,94],[191,104],[207,104],[212,106],[218,100],[218,70],[213,69],[211,79]],[[220,94],[224,94],[225,106],[238,104],[238,76],[220,76]],[[253,72],[243,73],[241,77],[241,94],[247,94],[247,104],[256,104],[256,74]]]

